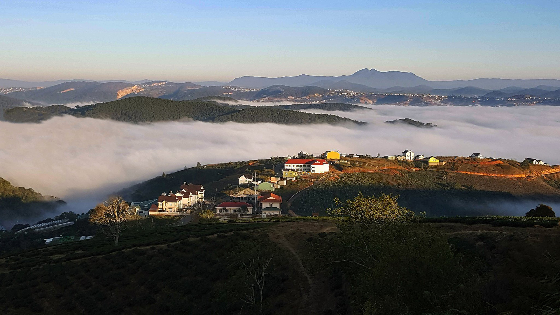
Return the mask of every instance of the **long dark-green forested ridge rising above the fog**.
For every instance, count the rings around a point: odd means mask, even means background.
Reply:
[[[57,105],[34,108],[13,108],[5,111],[4,119],[10,122],[40,122],[55,115],[69,114],[76,117],[114,119],[125,122],[160,122],[193,119],[205,122],[239,123],[356,123],[336,115],[310,114],[294,110],[270,108],[269,106],[239,108],[216,101],[175,101],[136,96],[107,103],[68,108]]]

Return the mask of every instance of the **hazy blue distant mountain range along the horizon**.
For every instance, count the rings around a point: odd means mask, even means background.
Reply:
[[[0,79],[0,83],[3,82],[2,80],[4,79]],[[50,83],[56,82],[58,81]],[[26,83],[30,84],[31,82]],[[35,83],[46,84],[49,82]],[[298,103],[325,101],[356,103],[357,101],[364,101],[364,98],[372,100],[367,94],[484,96],[499,99],[529,95],[543,99],[560,99],[560,80],[475,79],[468,81],[428,81],[410,72],[380,72],[374,69],[363,69],[353,75],[339,77],[308,75],[280,78],[240,77],[228,84],[216,81],[199,83],[148,80],[137,82],[68,81],[47,87],[14,91],[7,96],[43,105],[94,104],[132,96],[150,96],[170,100],[227,96],[247,101],[295,101]],[[206,86],[210,84],[220,85]],[[358,95],[360,93],[365,95]],[[389,100],[391,98],[385,99],[384,102]],[[398,100],[396,101],[398,102]]]

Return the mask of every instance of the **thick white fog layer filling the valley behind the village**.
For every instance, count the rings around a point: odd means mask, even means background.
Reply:
[[[314,111],[317,113],[317,111]],[[374,106],[324,112],[367,126],[164,122],[130,124],[70,116],[40,124],[0,122],[0,177],[87,211],[108,193],[184,166],[286,156],[301,150],[395,155],[536,158],[560,163],[560,108]],[[412,118],[418,128],[385,121]],[[67,209],[68,210],[68,209]]]

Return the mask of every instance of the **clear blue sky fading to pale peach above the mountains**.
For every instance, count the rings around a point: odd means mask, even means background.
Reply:
[[[398,2],[398,3],[396,3]],[[0,2],[0,77],[560,78],[560,1]]]

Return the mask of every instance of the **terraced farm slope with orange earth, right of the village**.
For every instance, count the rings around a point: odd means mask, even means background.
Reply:
[[[384,169],[342,174],[315,184],[292,203],[292,210],[301,215],[312,212],[323,215],[326,209],[334,206],[334,197],[344,201],[358,192],[398,194],[400,205],[426,212],[427,216],[503,215],[512,214],[508,203],[534,204],[534,207],[538,203],[560,202],[560,189],[550,186],[541,177],[502,178],[444,170]]]

